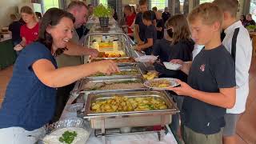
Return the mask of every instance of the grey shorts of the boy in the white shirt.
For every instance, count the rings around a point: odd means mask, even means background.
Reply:
[[[233,136],[235,134],[239,114],[225,114],[224,118],[225,118],[226,125],[223,129],[223,136],[224,137]]]

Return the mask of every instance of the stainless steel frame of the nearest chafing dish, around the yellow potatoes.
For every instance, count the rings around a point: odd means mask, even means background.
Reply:
[[[114,95],[126,97],[154,97],[162,98],[166,102],[166,110],[146,110],[146,111],[129,111],[115,113],[94,113],[90,110],[91,104],[98,99],[108,99]],[[135,126],[164,126],[170,124],[171,114],[179,112],[178,107],[170,99],[166,91],[152,90],[127,90],[115,92],[93,92],[83,95],[86,101],[83,118],[90,120],[90,125],[94,129],[112,129],[121,127]]]

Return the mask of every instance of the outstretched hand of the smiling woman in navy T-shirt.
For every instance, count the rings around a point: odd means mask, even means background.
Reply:
[[[98,72],[103,74],[112,74],[119,72],[118,66],[111,60],[94,62]]]

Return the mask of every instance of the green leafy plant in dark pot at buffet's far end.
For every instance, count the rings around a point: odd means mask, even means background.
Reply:
[[[109,26],[109,18],[112,16],[112,9],[102,4],[94,8],[94,16],[98,17],[101,27]]]

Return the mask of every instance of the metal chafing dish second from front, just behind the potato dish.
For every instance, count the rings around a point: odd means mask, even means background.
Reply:
[[[73,94],[79,94],[81,92],[86,92],[86,93],[91,93],[91,92],[102,92],[102,91],[115,91],[115,90],[143,90],[145,89],[144,86],[142,87],[135,87],[132,89],[123,89],[122,87],[114,87],[112,90],[97,90],[93,88],[86,89],[86,85],[98,85],[98,83],[104,82],[104,83],[122,83],[122,82],[139,82],[142,83],[144,82],[144,79],[140,76],[131,76],[131,77],[123,77],[123,78],[116,78],[116,77],[111,77],[111,78],[101,78],[101,77],[95,77],[95,78],[84,78],[78,82],[77,90],[73,90]]]

